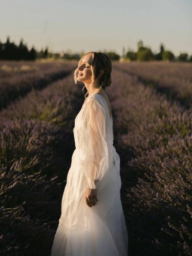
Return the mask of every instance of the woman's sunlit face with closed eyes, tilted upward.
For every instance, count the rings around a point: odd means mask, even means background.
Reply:
[[[91,83],[92,71],[91,63],[93,60],[93,54],[89,53],[83,57],[80,66],[78,66],[77,81],[83,83]]]

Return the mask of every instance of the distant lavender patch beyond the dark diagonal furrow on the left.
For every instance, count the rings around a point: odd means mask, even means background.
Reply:
[[[1,65],[3,67],[3,64]],[[15,66],[14,63],[6,65],[4,66],[9,67],[10,71],[7,68],[7,71],[0,72],[0,110],[6,108],[11,101],[24,97],[31,90],[42,90],[53,81],[67,76],[75,67],[74,62],[27,62],[25,65],[18,62]],[[19,71],[19,67],[28,69]],[[14,71],[14,68],[18,71]],[[3,74],[9,75],[3,77]]]

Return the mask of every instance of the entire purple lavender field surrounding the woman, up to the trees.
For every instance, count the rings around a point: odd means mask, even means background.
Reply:
[[[48,256],[84,100],[73,79],[77,62],[31,63],[26,70],[15,62],[10,75],[6,65],[0,65],[0,254]],[[106,93],[130,256],[192,251],[191,69],[185,63],[113,63]],[[18,87],[29,90],[22,94]]]

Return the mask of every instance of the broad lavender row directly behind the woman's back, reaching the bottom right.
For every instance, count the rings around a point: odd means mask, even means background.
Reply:
[[[134,75],[113,71],[109,91],[122,202],[133,255],[191,251],[192,113]]]

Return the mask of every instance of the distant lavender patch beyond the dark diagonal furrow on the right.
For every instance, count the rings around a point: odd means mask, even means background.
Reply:
[[[191,63],[115,63],[115,68],[136,75],[147,87],[154,88],[170,101],[177,100],[184,108],[192,107]]]

